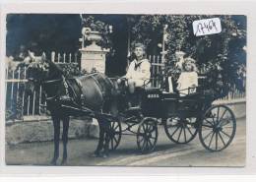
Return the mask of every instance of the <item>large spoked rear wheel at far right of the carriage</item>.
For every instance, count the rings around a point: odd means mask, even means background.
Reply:
[[[205,149],[220,152],[231,143],[235,130],[236,121],[232,111],[225,105],[215,105],[202,118],[199,139]]]

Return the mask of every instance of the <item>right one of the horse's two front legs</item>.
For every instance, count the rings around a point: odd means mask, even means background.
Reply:
[[[62,142],[63,142],[63,157],[61,164],[65,164],[67,162],[67,144],[68,144],[68,131],[69,131],[69,117],[64,117],[63,119],[63,133],[62,133]]]

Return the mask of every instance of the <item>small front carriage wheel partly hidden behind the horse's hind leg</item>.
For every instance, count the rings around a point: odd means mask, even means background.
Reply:
[[[119,121],[111,121],[109,130],[109,150],[114,151],[121,141],[122,128]]]

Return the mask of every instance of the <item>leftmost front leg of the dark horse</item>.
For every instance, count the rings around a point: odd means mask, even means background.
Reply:
[[[54,154],[51,160],[51,164],[56,165],[59,157],[60,118],[52,115],[52,121],[54,127]]]

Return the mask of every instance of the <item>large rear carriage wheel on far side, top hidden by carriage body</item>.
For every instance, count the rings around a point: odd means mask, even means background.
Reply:
[[[197,135],[197,118],[168,118],[164,122],[164,130],[172,142],[176,144],[187,144]]]

